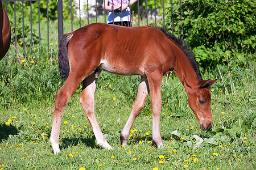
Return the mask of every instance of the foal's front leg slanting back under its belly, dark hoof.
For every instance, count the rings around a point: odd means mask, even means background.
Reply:
[[[120,140],[121,145],[126,146],[127,145],[127,139],[130,134],[131,126],[133,125],[133,122],[135,118],[141,113],[141,110],[143,109],[145,105],[145,101],[147,99],[147,95],[149,92],[148,88],[148,81],[146,77],[141,77],[141,83],[139,84],[139,90],[136,96],[136,99],[133,103],[133,106],[131,107],[131,114],[128,119],[128,121],[125,124],[125,127],[123,128]]]

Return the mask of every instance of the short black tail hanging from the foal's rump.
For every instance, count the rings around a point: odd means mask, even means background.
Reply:
[[[69,62],[68,62],[68,44],[70,39],[72,38],[72,33],[66,33],[60,40],[59,44],[59,71],[61,78],[65,79],[69,75]]]

